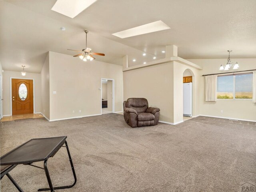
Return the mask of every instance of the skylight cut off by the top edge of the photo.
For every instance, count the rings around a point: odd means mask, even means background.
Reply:
[[[53,11],[74,18],[97,0],[57,0]]]

